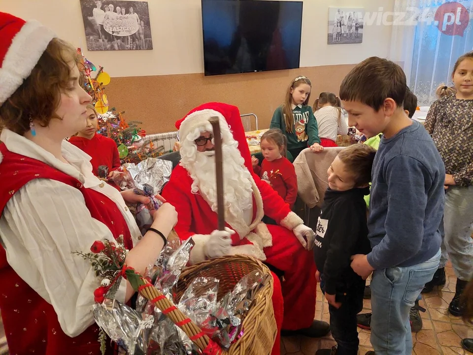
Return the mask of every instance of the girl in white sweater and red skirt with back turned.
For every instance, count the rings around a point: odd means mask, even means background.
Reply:
[[[348,134],[348,124],[341,112],[340,98],[334,93],[320,93],[314,102],[314,116],[319,128],[320,145],[336,147],[337,135]]]

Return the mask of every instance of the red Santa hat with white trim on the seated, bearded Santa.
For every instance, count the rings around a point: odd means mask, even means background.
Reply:
[[[192,109],[184,118],[176,122],[176,128],[179,130],[179,138],[183,140],[194,128],[203,127],[212,116],[224,117],[224,120],[220,120],[220,125],[226,124],[230,129],[233,138],[238,142],[238,150],[245,160],[246,168],[250,172],[253,171],[250,149],[246,142],[240,111],[236,106],[222,103],[207,103]]]

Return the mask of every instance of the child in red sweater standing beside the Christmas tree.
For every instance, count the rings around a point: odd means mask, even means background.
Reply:
[[[87,126],[77,136],[71,137],[69,142],[92,157],[92,173],[105,181],[121,165],[117,144],[97,133],[97,111],[93,105],[87,106]],[[99,169],[101,166],[106,167],[108,172]]]

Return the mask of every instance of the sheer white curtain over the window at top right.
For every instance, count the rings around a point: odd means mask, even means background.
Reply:
[[[457,0],[469,14],[463,36],[443,34],[434,23],[435,13],[446,0],[395,0],[394,11],[405,12],[404,25],[393,24],[389,58],[403,66],[407,85],[419,106],[435,100],[440,83],[451,86],[458,57],[473,50],[473,0]],[[396,16],[395,16],[396,17]]]

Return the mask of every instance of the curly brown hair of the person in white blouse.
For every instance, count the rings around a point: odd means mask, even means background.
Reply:
[[[53,38],[30,76],[0,106],[0,130],[8,128],[23,135],[30,130],[30,117],[42,127],[47,127],[53,118],[61,119],[56,109],[61,102],[61,93],[67,89],[70,80],[71,63],[81,63],[75,48],[59,38]]]

